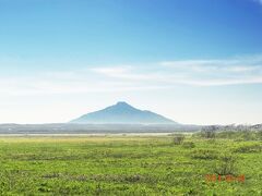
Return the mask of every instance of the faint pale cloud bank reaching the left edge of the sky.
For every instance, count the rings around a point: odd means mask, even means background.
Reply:
[[[103,70],[103,71],[102,71]],[[112,69],[106,70],[80,70],[69,72],[39,73],[34,76],[0,76],[0,97],[2,96],[35,96],[58,94],[88,94],[88,93],[114,93],[127,90],[143,90],[162,88],[158,85],[148,86],[129,81],[107,78],[100,74],[112,74]],[[97,74],[94,74],[94,71]],[[128,76],[128,74],[127,74]],[[132,78],[133,79],[133,78]],[[141,78],[140,78],[141,79]]]

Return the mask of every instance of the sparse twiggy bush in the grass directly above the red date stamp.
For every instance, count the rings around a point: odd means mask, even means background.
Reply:
[[[237,158],[233,155],[224,155],[221,157],[219,162],[215,166],[214,172],[218,175],[236,175]]]

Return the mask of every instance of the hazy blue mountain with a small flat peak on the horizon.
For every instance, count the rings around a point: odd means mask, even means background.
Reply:
[[[103,110],[84,114],[70,123],[82,124],[177,124],[175,121],[167,119],[157,113],[139,110],[127,102],[117,102],[114,106]]]

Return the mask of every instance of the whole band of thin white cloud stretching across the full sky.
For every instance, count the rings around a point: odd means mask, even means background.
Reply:
[[[24,76],[0,76],[1,96],[112,93],[170,88],[174,85],[262,84],[262,57],[163,61]]]

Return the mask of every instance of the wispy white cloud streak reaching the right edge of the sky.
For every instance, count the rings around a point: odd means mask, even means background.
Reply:
[[[152,66],[96,69],[105,77],[147,83],[147,85],[222,86],[262,83],[261,57],[245,57],[221,60],[184,60],[153,63]],[[103,71],[100,71],[103,70]],[[118,70],[118,68],[114,68]]]

